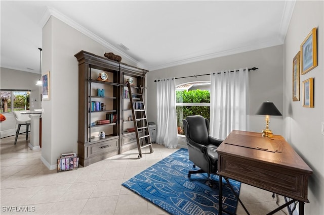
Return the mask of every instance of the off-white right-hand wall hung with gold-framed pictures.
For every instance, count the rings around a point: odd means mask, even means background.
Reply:
[[[284,136],[313,170],[308,184],[310,203],[305,204],[305,214],[324,214],[324,136],[321,134],[321,122],[324,121],[323,13],[323,1],[296,1],[284,48]],[[318,66],[300,76],[300,101],[292,101],[293,58],[314,27],[317,27]],[[314,108],[303,108],[302,81],[311,77],[314,78]]]

